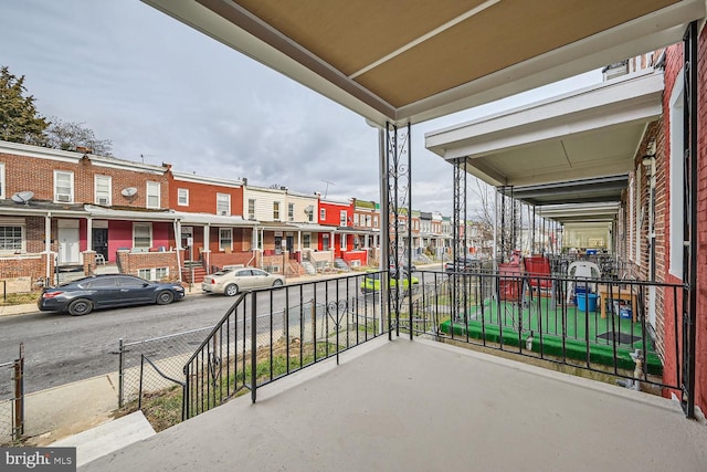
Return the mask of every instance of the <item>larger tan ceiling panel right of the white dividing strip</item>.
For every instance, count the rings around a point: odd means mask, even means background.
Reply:
[[[357,78],[404,106],[647,14],[673,0],[502,0]],[[550,25],[538,28],[538,25]]]

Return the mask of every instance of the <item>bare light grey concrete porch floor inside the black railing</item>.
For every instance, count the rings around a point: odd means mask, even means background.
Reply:
[[[675,401],[425,339],[377,339],[82,471],[705,471]]]

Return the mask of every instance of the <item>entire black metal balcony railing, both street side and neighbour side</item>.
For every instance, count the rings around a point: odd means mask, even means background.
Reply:
[[[241,294],[184,366],[183,418],[247,391],[255,401],[261,386],[401,332],[609,375],[656,394],[680,390],[679,360],[664,363],[680,359],[678,310],[663,301],[678,300],[682,285],[493,271],[415,276],[410,290],[383,271]],[[381,286],[391,287],[390,298]]]

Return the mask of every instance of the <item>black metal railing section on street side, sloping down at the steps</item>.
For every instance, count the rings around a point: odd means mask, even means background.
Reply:
[[[384,334],[381,283],[387,271],[240,294],[184,365],[183,418]]]

